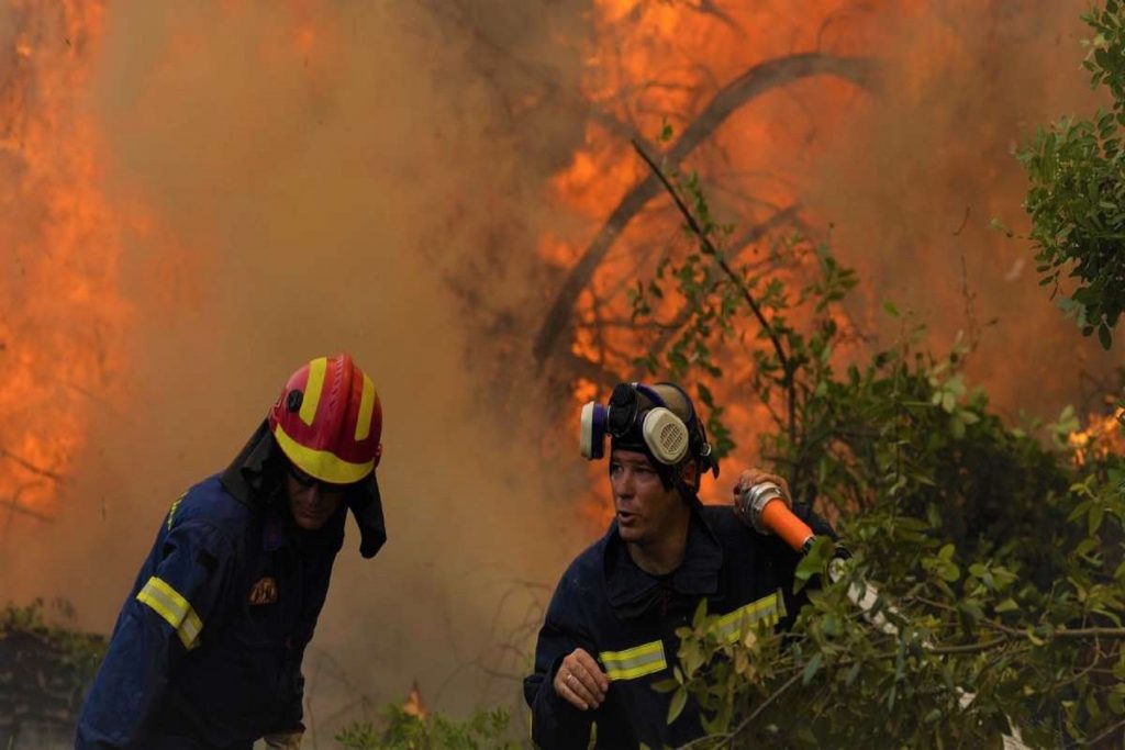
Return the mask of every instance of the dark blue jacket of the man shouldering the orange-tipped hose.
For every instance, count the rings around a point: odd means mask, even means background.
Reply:
[[[817,533],[831,534],[806,515]],[[693,503],[684,561],[665,578],[649,576],[629,557],[616,521],[578,555],[555,589],[539,631],[534,674],[523,692],[531,707],[531,734],[542,750],[629,750],[678,747],[702,734],[690,702],[667,724],[670,693],[652,684],[677,663],[677,627],[690,624],[701,598],[708,613],[723,615],[721,634],[738,638],[754,623],[785,627],[803,599],[792,594],[799,555],[774,536],[739,522],[730,506]],[[593,656],[610,678],[601,707],[579,711],[555,693],[562,658],[576,648]],[[596,729],[592,725],[596,724]]]

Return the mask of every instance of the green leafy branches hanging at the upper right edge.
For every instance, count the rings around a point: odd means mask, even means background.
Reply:
[[[1042,283],[1058,292],[1066,271],[1077,287],[1061,307],[1109,349],[1125,309],[1125,8],[1108,0],[1082,18],[1095,30],[1083,66],[1108,90],[1110,109],[1041,129],[1018,157],[1032,183],[1025,208]]]

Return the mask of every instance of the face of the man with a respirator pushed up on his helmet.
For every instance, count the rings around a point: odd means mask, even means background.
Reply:
[[[610,454],[610,486],[624,542],[660,546],[683,537],[691,509],[675,487],[665,489],[646,454],[615,450]]]

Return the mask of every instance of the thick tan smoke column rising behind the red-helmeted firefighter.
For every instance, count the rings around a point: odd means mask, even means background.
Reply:
[[[469,340],[452,291],[530,293],[533,198],[582,133],[541,93],[576,88],[551,36],[577,15],[518,4],[112,6],[80,109],[134,317],[63,510],[4,537],[0,598],[65,596],[108,631],[171,500],[290,371],[349,351],[384,404],[389,541],[366,562],[349,528],[310,719],[331,737],[415,679],[442,708],[516,699],[542,585],[586,543],[543,498],[536,436],[489,407],[503,352]],[[510,372],[518,403],[532,389]]]

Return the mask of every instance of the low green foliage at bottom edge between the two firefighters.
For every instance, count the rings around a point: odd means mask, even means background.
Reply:
[[[360,722],[336,735],[349,750],[515,750],[507,738],[508,714],[478,711],[465,721],[441,714],[420,717],[399,705],[387,706],[377,723]]]

